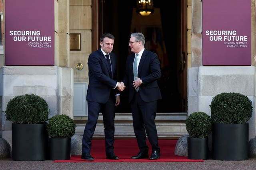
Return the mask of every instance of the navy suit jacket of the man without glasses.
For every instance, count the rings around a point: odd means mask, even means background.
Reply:
[[[89,55],[89,85],[86,100],[98,103],[106,103],[110,97],[114,98],[118,90],[114,89],[118,82],[116,77],[116,55],[110,53],[112,72],[102,51],[98,49]]]

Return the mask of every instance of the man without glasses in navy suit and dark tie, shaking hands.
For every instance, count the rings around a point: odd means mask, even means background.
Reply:
[[[90,154],[99,112],[102,111],[107,159],[118,159],[114,154],[115,106],[120,103],[118,90],[124,86],[117,82],[116,55],[112,53],[114,36],[110,33],[100,37],[101,48],[88,58],[89,85],[87,90],[88,121],[82,140],[82,159],[94,160]],[[110,58],[109,58],[110,57]]]

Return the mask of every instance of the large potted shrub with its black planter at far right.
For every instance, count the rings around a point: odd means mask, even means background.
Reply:
[[[252,101],[235,92],[220,93],[210,104],[212,119],[212,158],[247,160]]]

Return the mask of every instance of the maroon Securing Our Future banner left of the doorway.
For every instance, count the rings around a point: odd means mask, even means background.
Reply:
[[[6,66],[54,66],[54,0],[6,0],[5,38]]]

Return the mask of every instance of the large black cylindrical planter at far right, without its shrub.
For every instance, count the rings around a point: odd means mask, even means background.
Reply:
[[[212,124],[212,159],[248,160],[249,125]]]

